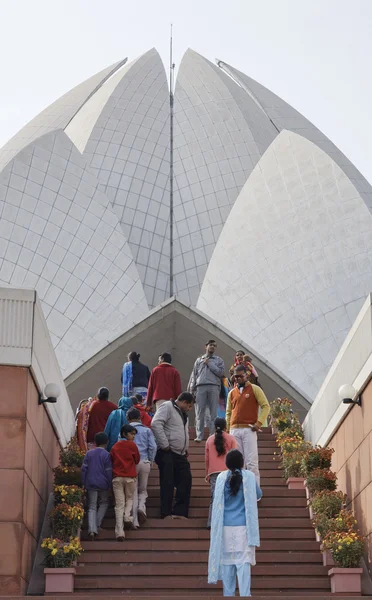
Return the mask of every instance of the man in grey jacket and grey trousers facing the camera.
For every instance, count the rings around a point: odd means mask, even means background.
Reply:
[[[195,406],[195,442],[204,438],[205,412],[209,409],[209,435],[214,433],[214,422],[217,418],[218,402],[221,390],[221,379],[225,374],[225,363],[216,356],[217,344],[209,340],[205,345],[205,354],[197,358],[191,373],[188,390],[196,395]]]

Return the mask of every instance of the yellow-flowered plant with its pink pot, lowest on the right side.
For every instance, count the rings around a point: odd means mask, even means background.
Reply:
[[[362,536],[351,529],[331,531],[323,545],[331,552],[335,562],[335,566],[328,571],[332,593],[360,594],[363,569],[359,565],[364,550]]]

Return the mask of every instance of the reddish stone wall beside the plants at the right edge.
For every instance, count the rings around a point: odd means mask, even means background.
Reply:
[[[351,500],[359,528],[366,537],[366,559],[372,575],[372,380],[362,394],[362,408],[353,406],[329,446],[339,488]]]

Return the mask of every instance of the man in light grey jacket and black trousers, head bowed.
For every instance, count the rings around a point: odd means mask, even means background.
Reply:
[[[189,419],[194,396],[183,392],[177,400],[164,402],[151,423],[158,446],[155,462],[159,467],[160,513],[162,519],[187,519],[191,494],[191,469],[188,457]],[[176,488],[175,503],[173,493]]]

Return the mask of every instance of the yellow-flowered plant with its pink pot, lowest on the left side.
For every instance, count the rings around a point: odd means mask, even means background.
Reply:
[[[71,537],[69,541],[44,538],[41,547],[45,552],[45,593],[72,594],[76,573],[74,565],[83,552],[79,538]]]

